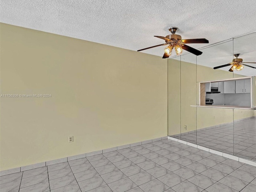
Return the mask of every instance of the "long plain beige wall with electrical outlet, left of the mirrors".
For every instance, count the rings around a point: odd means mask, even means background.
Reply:
[[[0,25],[0,169],[167,136],[167,61]],[[74,142],[68,143],[68,136]]]

